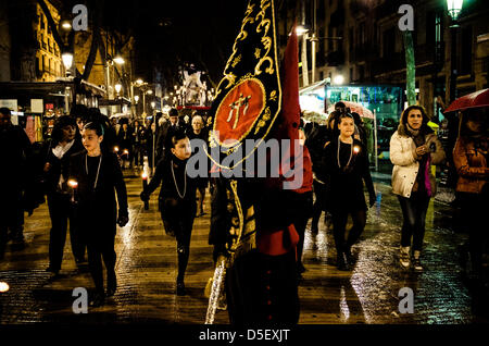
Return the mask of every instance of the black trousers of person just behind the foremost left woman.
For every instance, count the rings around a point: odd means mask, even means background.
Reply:
[[[75,209],[70,202],[67,194],[49,194],[48,208],[51,218],[51,232],[49,237],[49,267],[60,270],[63,261],[64,244],[66,243],[66,231],[70,221],[70,239],[72,252],[75,260],[85,258],[85,240],[78,231]]]

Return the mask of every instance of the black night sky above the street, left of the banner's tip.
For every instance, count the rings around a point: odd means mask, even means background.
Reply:
[[[178,65],[195,63],[218,83],[231,52],[247,0],[105,0],[104,25],[136,38],[135,74],[153,78],[162,71],[168,84]]]

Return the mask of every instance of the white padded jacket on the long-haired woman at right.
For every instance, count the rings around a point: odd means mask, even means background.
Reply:
[[[439,164],[444,160],[444,151],[441,143],[435,134],[426,135],[426,144],[429,147],[435,143],[436,151],[431,152],[431,164]],[[410,198],[416,182],[419,162],[415,158],[416,145],[410,136],[402,136],[397,131],[390,138],[390,161],[392,169],[392,193]],[[436,194],[436,180],[429,170],[429,181],[432,196]]]

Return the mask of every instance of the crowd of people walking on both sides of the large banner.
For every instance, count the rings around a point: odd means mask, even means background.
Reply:
[[[148,124],[124,119],[111,122],[97,109],[76,106],[70,115],[57,120],[51,138],[41,146],[33,146],[22,128],[11,124],[8,109],[0,109],[0,159],[9,166],[0,170],[0,259],[9,239],[22,248],[24,210],[30,214],[46,196],[51,218],[47,271],[57,275],[61,270],[70,224],[75,261],[83,265],[88,258],[96,286],[90,304],[102,305],[117,286],[116,224],[124,226],[129,217],[122,170],[142,169],[143,157],[148,157],[154,174],[140,198],[148,201],[161,186],[159,206],[164,230],[177,243],[176,294],[186,294],[184,277],[193,221],[204,214],[203,201],[210,184],[209,178],[188,176],[187,160],[196,152],[190,139],[208,140],[204,115],[185,119],[172,109],[167,120],[156,118]],[[428,121],[422,107],[406,108],[390,140],[392,193],[398,196],[404,220],[399,263],[415,271],[423,271],[425,218],[429,200],[436,194],[431,166],[446,160],[443,147]],[[304,181],[297,190],[301,208],[293,218],[299,234],[297,277],[301,280],[306,270],[302,263],[306,224],[312,218],[311,232],[317,233],[322,212],[333,223],[337,267],[349,271],[355,261],[352,247],[364,231],[368,208],[376,202],[362,119],[338,102],[326,124],[301,122],[300,139],[304,147]],[[479,272],[487,242],[487,234],[477,226],[488,201],[487,151],[487,116],[478,111],[467,112],[461,121],[453,158],[460,174],[456,189],[465,200],[464,210],[471,220],[471,255]],[[349,217],[353,225],[346,237]]]

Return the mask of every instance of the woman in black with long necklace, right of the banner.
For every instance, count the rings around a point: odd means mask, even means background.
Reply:
[[[367,206],[363,193],[365,182],[369,196],[369,207],[376,195],[368,168],[365,147],[353,138],[354,120],[350,113],[342,113],[336,123],[339,136],[326,144],[325,160],[330,176],[329,208],[339,270],[348,270],[354,263],[351,247],[356,243],[366,224]],[[353,226],[344,239],[348,215]]]

